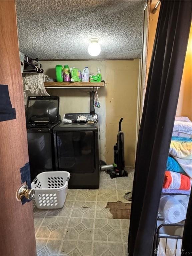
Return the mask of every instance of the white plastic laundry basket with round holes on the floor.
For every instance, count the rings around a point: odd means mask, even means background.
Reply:
[[[42,172],[31,183],[35,203],[40,209],[59,209],[67,196],[69,172]]]

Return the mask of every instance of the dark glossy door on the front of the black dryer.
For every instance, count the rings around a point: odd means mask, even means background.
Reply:
[[[93,131],[56,132],[58,170],[70,173],[95,171],[95,133]]]

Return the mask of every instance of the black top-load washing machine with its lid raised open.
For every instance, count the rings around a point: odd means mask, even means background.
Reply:
[[[55,170],[53,128],[58,123],[58,96],[28,97],[26,125],[31,180],[41,172]]]

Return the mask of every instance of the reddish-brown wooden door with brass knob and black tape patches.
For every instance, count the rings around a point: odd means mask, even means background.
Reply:
[[[29,159],[15,1],[0,1],[0,84],[16,110],[16,119],[0,122],[0,255],[35,256],[32,202],[16,199]]]

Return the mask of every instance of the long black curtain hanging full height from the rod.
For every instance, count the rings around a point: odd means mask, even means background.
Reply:
[[[161,1],[138,137],[129,256],[151,256],[191,24],[191,1]]]

